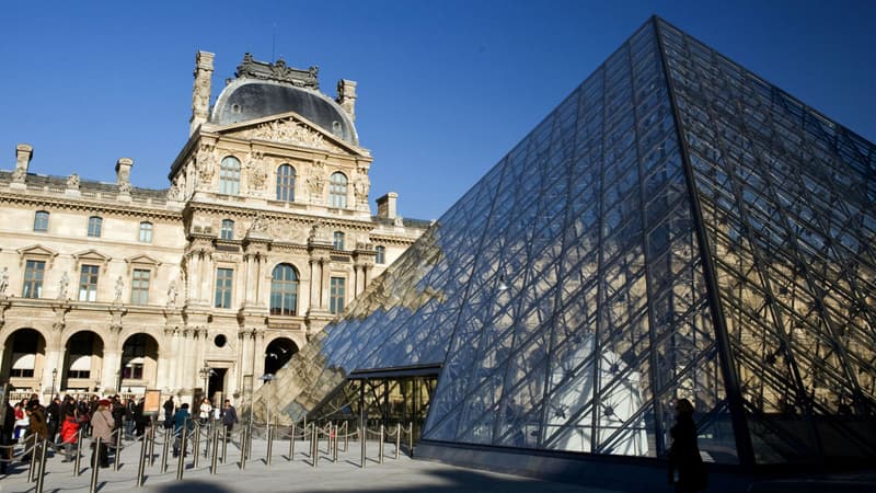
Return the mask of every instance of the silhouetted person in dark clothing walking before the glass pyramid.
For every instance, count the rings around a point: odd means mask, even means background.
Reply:
[[[676,493],[694,493],[705,490],[706,471],[696,445],[696,425],[693,404],[687,399],[676,402],[676,425],[669,429],[672,445],[669,448],[669,483]]]

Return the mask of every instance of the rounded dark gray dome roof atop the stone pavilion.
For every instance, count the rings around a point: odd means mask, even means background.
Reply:
[[[229,83],[216,100],[210,123],[230,125],[288,112],[359,145],[356,127],[337,103],[316,91],[269,80],[237,79]]]

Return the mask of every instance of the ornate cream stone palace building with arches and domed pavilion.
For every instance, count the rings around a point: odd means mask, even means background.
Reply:
[[[368,196],[356,82],[247,54],[210,106],[198,51],[170,186],[0,171],[0,379],[49,393],[245,397],[428,226]]]

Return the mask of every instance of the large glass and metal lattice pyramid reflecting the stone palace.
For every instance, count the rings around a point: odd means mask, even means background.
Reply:
[[[440,365],[422,439],[876,457],[876,148],[646,22],[278,377]]]

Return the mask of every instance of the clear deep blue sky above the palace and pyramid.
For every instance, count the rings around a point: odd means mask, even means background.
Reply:
[[[164,188],[188,138],[195,53],[212,96],[243,54],[358,81],[371,207],[437,219],[658,14],[876,140],[876,1],[14,1],[0,5],[0,169]]]

